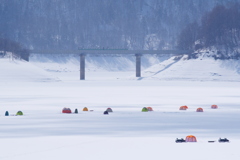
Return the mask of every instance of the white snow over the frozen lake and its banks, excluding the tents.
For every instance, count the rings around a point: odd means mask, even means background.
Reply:
[[[133,69],[96,67],[85,81],[75,63],[0,59],[1,160],[239,159],[240,80],[229,62],[169,59],[142,79]],[[141,112],[147,106],[154,111]],[[62,114],[64,107],[79,114]],[[113,113],[103,115],[108,107]],[[18,110],[24,115],[14,116]],[[175,143],[187,135],[198,142]],[[220,137],[230,143],[208,143]]]

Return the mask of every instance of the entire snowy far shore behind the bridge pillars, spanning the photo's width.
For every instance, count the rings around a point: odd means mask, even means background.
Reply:
[[[79,79],[79,57],[57,55],[35,55],[30,63],[0,59],[2,68],[8,72],[3,77],[18,81],[59,81]],[[102,77],[102,73],[109,77]],[[135,77],[134,56],[88,56],[86,58],[86,80],[110,78],[125,80],[161,81],[240,81],[239,60],[214,60],[200,56],[143,56],[142,77]]]

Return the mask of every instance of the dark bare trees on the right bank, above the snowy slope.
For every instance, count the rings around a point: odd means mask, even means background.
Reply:
[[[201,23],[190,23],[178,37],[185,50],[215,49],[219,58],[240,57],[240,4],[218,5],[206,13]]]

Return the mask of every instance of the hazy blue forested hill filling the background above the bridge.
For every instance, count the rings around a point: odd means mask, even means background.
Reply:
[[[240,0],[0,0],[0,38],[29,49],[164,49],[218,4]]]

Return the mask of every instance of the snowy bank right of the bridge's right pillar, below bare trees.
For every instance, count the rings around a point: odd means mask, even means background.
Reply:
[[[240,81],[239,60],[214,60],[212,57],[188,59],[172,57],[142,73],[141,79],[185,81]]]

